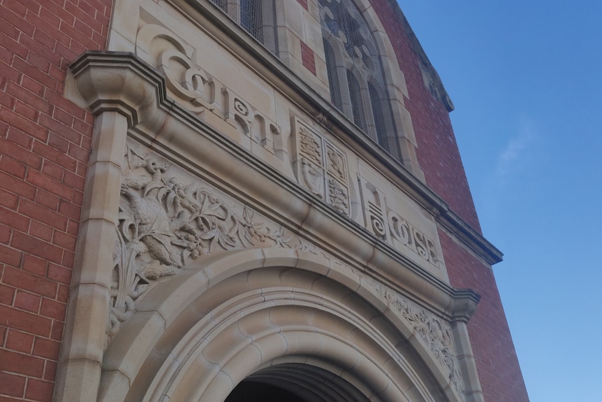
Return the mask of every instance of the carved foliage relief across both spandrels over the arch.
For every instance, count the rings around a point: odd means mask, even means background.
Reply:
[[[284,247],[332,259],[273,222],[255,217],[247,206],[235,206],[216,189],[181,182],[169,175],[169,168],[168,161],[133,141],[126,144],[107,331],[110,338],[135,314],[138,299],[152,285],[177,275],[193,261],[203,264],[203,256],[214,252]],[[362,271],[336,263],[358,275],[403,317],[465,400],[450,324]]]

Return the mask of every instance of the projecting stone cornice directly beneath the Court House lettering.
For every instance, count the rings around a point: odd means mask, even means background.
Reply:
[[[87,52],[73,62],[71,73],[96,115],[105,111],[126,115],[132,134],[142,143],[192,170],[210,174],[234,196],[277,217],[299,236],[355,266],[367,267],[375,278],[430,306],[446,320],[466,321],[475,310],[479,299],[475,292],[454,289],[435,278],[168,99],[163,76],[135,55]],[[228,164],[232,157],[247,168],[232,175]],[[262,194],[262,199],[244,194]]]

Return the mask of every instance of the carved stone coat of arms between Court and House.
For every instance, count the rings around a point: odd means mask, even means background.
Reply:
[[[349,174],[344,152],[296,117],[293,133],[300,184],[337,212],[349,215]]]

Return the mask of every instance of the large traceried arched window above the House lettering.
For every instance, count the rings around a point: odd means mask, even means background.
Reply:
[[[352,0],[318,0],[332,105],[399,159],[381,57]]]

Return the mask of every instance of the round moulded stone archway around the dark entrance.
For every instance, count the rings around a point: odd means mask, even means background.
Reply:
[[[98,401],[223,402],[250,382],[302,401],[461,401],[390,295],[366,280],[298,250],[186,268],[111,340]]]

